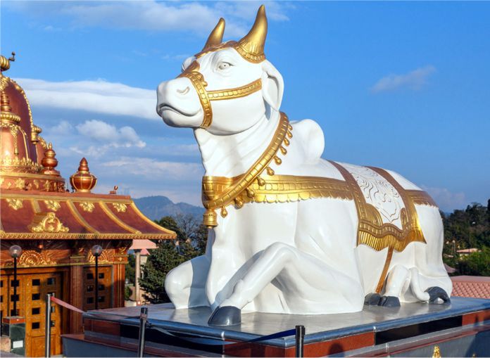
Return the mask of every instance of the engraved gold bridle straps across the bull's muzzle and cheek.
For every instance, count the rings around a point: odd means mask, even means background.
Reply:
[[[246,84],[241,87],[232,89],[219,89],[215,91],[206,91],[208,83],[204,79],[204,76],[199,72],[199,62],[194,61],[189,67],[182,72],[179,77],[187,77],[191,80],[191,84],[197,91],[201,107],[203,108],[203,122],[201,128],[208,128],[213,122],[213,109],[211,108],[210,101],[221,101],[225,99],[234,99],[249,96],[256,91],[262,89],[262,79],[256,79],[255,81]]]

